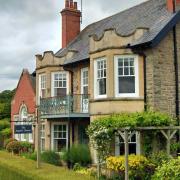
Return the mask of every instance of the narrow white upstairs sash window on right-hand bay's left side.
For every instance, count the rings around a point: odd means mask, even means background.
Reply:
[[[106,59],[100,58],[94,62],[94,94],[95,98],[106,97]]]

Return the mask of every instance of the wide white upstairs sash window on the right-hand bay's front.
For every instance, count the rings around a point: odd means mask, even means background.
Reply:
[[[116,97],[138,97],[138,58],[137,56],[115,56]]]

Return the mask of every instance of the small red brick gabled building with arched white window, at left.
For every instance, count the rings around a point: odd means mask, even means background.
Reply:
[[[36,112],[36,77],[35,73],[30,74],[23,69],[11,101],[11,129],[13,138],[18,141],[34,142],[33,121]],[[32,133],[16,134],[15,126],[30,125]]]

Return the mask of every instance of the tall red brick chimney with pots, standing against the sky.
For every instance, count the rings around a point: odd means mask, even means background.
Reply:
[[[77,8],[77,2],[65,0],[65,8],[62,15],[62,48],[65,48],[80,33],[81,12]]]

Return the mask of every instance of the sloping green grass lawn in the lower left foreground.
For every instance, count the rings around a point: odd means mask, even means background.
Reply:
[[[93,180],[93,178],[45,163],[37,169],[33,160],[0,151],[0,180]]]

